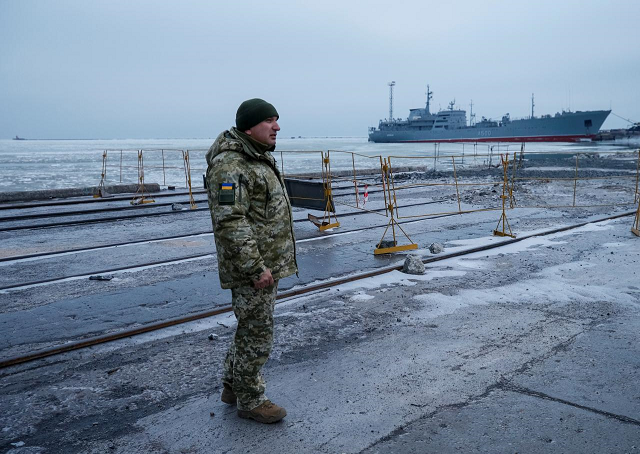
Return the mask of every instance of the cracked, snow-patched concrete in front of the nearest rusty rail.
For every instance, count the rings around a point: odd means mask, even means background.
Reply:
[[[0,448],[635,452],[640,244],[627,224],[279,304],[265,375],[289,415],[275,426],[219,401],[228,315],[204,330],[4,370]],[[612,238],[625,252],[610,263],[609,248],[594,245]]]

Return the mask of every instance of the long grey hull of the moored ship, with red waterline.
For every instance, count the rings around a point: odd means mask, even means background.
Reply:
[[[378,143],[398,142],[579,142],[591,140],[611,111],[565,112],[553,117],[514,120],[495,127],[419,130],[390,126],[369,133]]]

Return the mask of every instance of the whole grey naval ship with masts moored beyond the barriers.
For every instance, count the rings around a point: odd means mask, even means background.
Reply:
[[[427,85],[427,104],[424,108],[410,109],[406,119],[393,118],[393,86],[389,83],[389,118],[380,120],[378,127],[369,128],[369,141],[395,142],[580,142],[590,141],[600,130],[610,110],[565,112],[555,115],[533,115],[534,99],[531,97],[531,116],[511,119],[505,114],[495,121],[482,117],[475,122],[473,104],[471,121],[467,124],[467,112],[456,109],[455,101],[446,110],[432,114],[429,103],[433,92]]]

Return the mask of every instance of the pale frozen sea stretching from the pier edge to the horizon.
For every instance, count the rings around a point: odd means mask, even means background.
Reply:
[[[138,181],[138,150],[143,150],[145,182],[185,187],[183,151],[189,151],[193,187],[201,187],[205,153],[213,138],[113,140],[0,140],[0,192],[97,186],[107,152],[106,184]],[[613,152],[636,149],[638,142],[528,143],[525,152]],[[279,137],[274,153],[285,174],[319,173],[320,151],[331,150],[331,170],[372,169],[392,156],[398,166],[482,165],[492,155],[517,152],[521,144],[376,144],[366,137]],[[440,159],[435,162],[434,155]],[[432,158],[432,159],[426,159]]]

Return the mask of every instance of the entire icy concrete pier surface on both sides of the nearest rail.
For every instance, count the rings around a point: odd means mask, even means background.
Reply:
[[[541,205],[563,184],[523,183],[518,203]],[[485,183],[463,188],[461,197],[478,206],[498,189]],[[595,208],[518,208],[508,212],[511,227],[523,237],[620,214],[628,209],[607,203],[634,195],[605,179],[582,189]],[[436,199],[437,206],[417,205]],[[452,200],[438,187],[414,189],[402,212],[443,211]],[[100,205],[118,203],[129,205]],[[0,353],[227,304],[209,213],[170,205],[149,209],[160,215],[147,218],[3,232],[2,285],[55,279],[0,292]],[[382,194],[370,195],[368,208],[383,206]],[[341,209],[334,232],[295,223],[300,277],[284,279],[283,291],[403,262],[403,254],[373,254],[386,218]],[[296,219],[307,214],[294,211]],[[508,241],[491,235],[498,217],[410,218],[403,229],[419,246],[412,252],[428,259],[434,242],[444,245],[442,256]],[[288,416],[271,426],[240,419],[220,401],[235,329],[229,314],[1,369],[0,451],[637,452],[640,239],[631,223],[624,216],[532,236],[452,255],[424,275],[396,271],[279,301],[264,374],[268,397]],[[129,244],[107,246],[116,242]],[[10,260],[44,251],[60,254]],[[187,254],[203,256],[179,260]],[[148,265],[167,259],[176,261]],[[123,265],[131,268],[110,281],[89,280]]]

